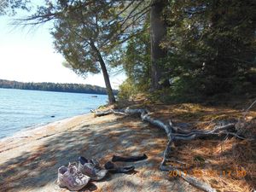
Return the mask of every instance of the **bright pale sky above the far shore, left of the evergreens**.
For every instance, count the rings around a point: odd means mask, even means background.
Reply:
[[[11,26],[13,18],[0,16],[0,79],[21,82],[79,83],[104,86],[102,74],[83,79],[62,66],[62,55],[55,52],[49,34],[50,24],[35,29]],[[123,73],[110,77],[117,89]]]

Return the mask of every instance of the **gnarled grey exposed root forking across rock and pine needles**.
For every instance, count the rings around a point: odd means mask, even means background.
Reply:
[[[154,119],[150,117],[150,113],[148,112],[148,110],[146,109],[141,109],[141,108],[137,108],[137,109],[133,109],[133,108],[126,108],[126,109],[109,109],[107,111],[96,111],[95,115],[97,117],[102,116],[102,115],[107,115],[109,113],[115,113],[115,114],[121,114],[121,115],[139,115],[141,117],[141,119],[143,119],[143,121],[148,122],[151,125],[154,125],[160,129],[162,129],[163,131],[166,131],[166,136],[168,139],[168,143],[166,145],[166,149],[164,151],[164,155],[163,155],[163,160],[160,163],[160,170],[161,171],[173,171],[173,172],[179,172],[180,174],[178,174],[179,177],[182,177],[185,181],[187,181],[188,183],[194,185],[195,187],[202,189],[204,191],[207,192],[216,192],[215,189],[212,189],[212,187],[207,184],[207,183],[203,183],[200,180],[198,180],[195,177],[191,177],[187,174],[185,174],[184,172],[177,170],[176,167],[173,166],[167,166],[166,165],[166,161],[168,160],[169,155],[172,152],[172,143],[176,142],[176,141],[189,141],[189,140],[193,140],[199,137],[210,137],[213,135],[232,135],[232,136],[236,136],[236,133],[232,132],[235,129],[235,124],[228,124],[228,125],[223,125],[223,126],[217,126],[215,127],[213,130],[211,131],[186,131],[183,130],[180,127],[174,126],[172,125],[172,122],[169,121],[168,124],[165,124],[164,122],[160,121],[159,119]],[[242,138],[242,137],[239,137]]]

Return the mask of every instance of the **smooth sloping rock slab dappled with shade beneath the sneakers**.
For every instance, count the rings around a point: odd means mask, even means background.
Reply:
[[[140,119],[92,114],[64,119],[0,140],[0,191],[69,191],[56,184],[58,167],[80,155],[100,160],[147,154],[147,160],[117,163],[135,166],[131,174],[109,174],[80,191],[199,191],[180,178],[160,172],[166,136]]]

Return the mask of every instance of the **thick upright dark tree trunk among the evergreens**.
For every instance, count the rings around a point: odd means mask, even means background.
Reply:
[[[160,43],[166,36],[166,24],[162,20],[162,12],[166,7],[166,0],[152,0],[150,12],[151,38],[151,86],[153,90],[160,89],[160,78],[163,67],[160,61],[167,55],[167,49],[161,49]]]

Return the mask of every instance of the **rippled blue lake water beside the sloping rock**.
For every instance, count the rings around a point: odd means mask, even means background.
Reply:
[[[28,127],[90,113],[90,109],[107,101],[105,95],[0,88],[0,138]]]

